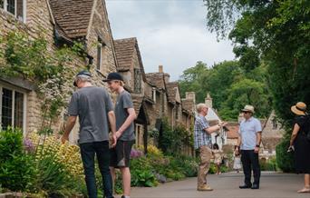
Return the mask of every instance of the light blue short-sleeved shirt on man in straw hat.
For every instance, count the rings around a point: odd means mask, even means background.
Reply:
[[[251,117],[240,124],[241,150],[254,150],[257,145],[257,133],[262,131],[262,124],[257,118]]]

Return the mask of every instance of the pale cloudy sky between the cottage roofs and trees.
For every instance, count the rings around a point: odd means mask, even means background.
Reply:
[[[233,60],[228,40],[217,41],[206,27],[202,0],[106,0],[114,39],[137,37],[146,73],[163,65],[171,81],[202,61]]]

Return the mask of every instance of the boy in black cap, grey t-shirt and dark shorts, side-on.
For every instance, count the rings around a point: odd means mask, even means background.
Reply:
[[[118,94],[115,104],[116,133],[118,141],[115,148],[111,149],[111,175],[115,179],[115,168],[121,169],[123,183],[123,195],[121,198],[130,198],[131,193],[131,171],[129,168],[131,159],[131,146],[134,143],[134,124],[136,113],[131,101],[131,94],[124,90],[121,74],[111,73],[107,80],[112,92]]]

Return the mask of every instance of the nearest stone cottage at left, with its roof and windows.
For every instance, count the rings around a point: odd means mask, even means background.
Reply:
[[[76,57],[69,66],[79,71],[88,65],[93,83],[116,71],[117,60],[105,1],[99,0],[1,0],[0,36],[23,32],[31,38],[44,37],[53,53],[62,45],[82,43],[83,57]],[[4,45],[0,44],[0,49]],[[4,65],[2,65],[4,66]],[[73,85],[68,84],[73,91]],[[21,127],[24,134],[40,128],[43,123],[41,103],[32,82],[20,78],[0,79],[0,124]],[[63,127],[64,114],[53,130]]]

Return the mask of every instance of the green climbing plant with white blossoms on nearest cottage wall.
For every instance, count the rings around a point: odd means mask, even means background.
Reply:
[[[51,47],[40,35],[33,39],[24,33],[11,32],[0,37],[0,77],[20,77],[36,85],[35,91],[42,99],[40,130],[44,132],[50,131],[46,128],[51,128],[71,94],[66,89],[72,84],[74,74],[69,65],[73,57],[81,54],[82,44]]]

